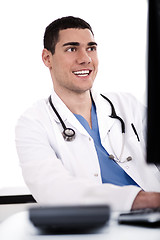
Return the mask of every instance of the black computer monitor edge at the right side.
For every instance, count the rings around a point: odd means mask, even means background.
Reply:
[[[160,0],[148,4],[147,163],[160,165]]]

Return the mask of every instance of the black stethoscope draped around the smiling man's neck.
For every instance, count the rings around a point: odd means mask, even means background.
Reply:
[[[123,121],[123,119],[121,117],[119,117],[117,114],[116,114],[116,111],[115,111],[115,108],[114,108],[114,105],[113,103],[111,102],[111,100],[109,98],[107,98],[106,96],[104,96],[103,94],[100,94],[105,100],[107,100],[111,106],[111,115],[109,117],[111,118],[115,118],[115,119],[118,119],[121,123],[121,132],[122,132],[122,147],[121,147],[121,153],[120,153],[120,156],[118,157],[114,151],[114,148],[113,148],[113,145],[112,145],[112,142],[111,142],[111,139],[110,139],[110,134],[108,134],[108,138],[109,138],[109,142],[110,142],[110,146],[112,148],[112,151],[114,153],[114,155],[110,154],[109,155],[109,158],[112,159],[112,160],[115,160],[116,162],[119,162],[119,163],[124,163],[124,162],[128,162],[128,161],[131,161],[132,160],[132,157],[129,156],[127,157],[124,161],[121,160],[122,158],[122,154],[123,154],[123,150],[124,150],[124,145],[125,145],[125,138],[124,138],[124,135],[125,135],[125,123]],[[52,103],[52,100],[51,100],[51,96],[49,96],[48,98],[49,100],[49,103],[53,109],[53,111],[55,112],[56,116],[58,117],[62,127],[63,127],[63,132],[62,132],[62,136],[64,138],[65,141],[68,141],[68,142],[71,142],[75,139],[75,136],[76,136],[76,133],[75,131],[72,129],[72,128],[68,128],[66,127],[64,121],[62,120],[61,116],[59,115],[58,111],[56,110],[56,108],[54,107],[53,103]],[[131,127],[135,133],[135,135],[137,136],[137,140],[140,141],[139,139],[139,136],[138,136],[138,133],[136,131],[136,128],[134,126],[133,123],[131,123]],[[110,132],[110,131],[109,131]]]

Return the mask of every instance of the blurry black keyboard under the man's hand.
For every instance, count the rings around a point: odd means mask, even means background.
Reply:
[[[145,208],[121,213],[118,217],[118,222],[121,224],[160,227],[160,207]]]

